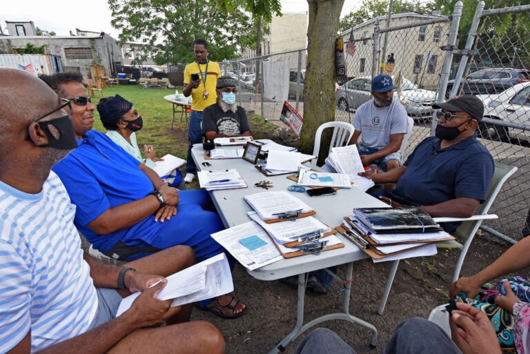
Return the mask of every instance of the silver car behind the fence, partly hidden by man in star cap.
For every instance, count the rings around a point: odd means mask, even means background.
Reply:
[[[372,98],[371,77],[357,77],[346,82],[335,90],[335,104],[340,110],[355,111],[364,102]],[[397,93],[395,94],[397,97]],[[431,107],[436,99],[436,92],[424,90],[415,83],[403,78],[401,84],[401,97],[406,112],[411,117],[431,117]]]

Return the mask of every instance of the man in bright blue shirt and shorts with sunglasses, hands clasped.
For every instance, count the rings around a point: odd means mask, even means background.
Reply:
[[[168,187],[106,135],[90,130],[95,107],[86,100],[79,75],[43,79],[72,106],[79,147],[52,169],[76,206],[75,225],[94,248],[126,261],[177,245],[193,248],[197,262],[224,252],[210,237],[224,226],[210,211],[215,208],[208,193]],[[233,266],[234,259],[228,259]],[[239,317],[245,308],[231,295],[200,306],[224,317]]]

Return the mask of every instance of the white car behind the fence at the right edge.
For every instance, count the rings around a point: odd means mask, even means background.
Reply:
[[[522,124],[530,129],[530,82],[516,83],[499,95],[489,97],[484,118]],[[481,122],[478,135],[492,140],[509,141],[518,138],[530,141],[530,132],[518,128]]]

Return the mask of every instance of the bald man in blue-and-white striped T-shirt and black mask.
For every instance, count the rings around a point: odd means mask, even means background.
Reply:
[[[194,263],[189,247],[125,267],[83,254],[75,206],[50,172],[77,145],[70,102],[23,70],[0,68],[0,80],[3,103],[24,102],[23,110],[0,105],[0,146],[11,149],[0,157],[1,353],[222,353],[215,326],[179,323],[188,321],[190,305],[172,308],[155,298],[164,276]],[[137,291],[115,318],[121,297]],[[173,325],[153,327],[166,321]]]

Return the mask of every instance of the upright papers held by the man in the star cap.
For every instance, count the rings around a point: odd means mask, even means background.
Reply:
[[[331,153],[326,157],[325,166],[325,170],[349,175],[353,186],[360,190],[366,192],[373,186],[371,179],[358,175],[358,173],[364,172],[364,166],[362,166],[361,157],[355,145],[331,148]]]

